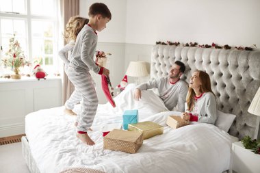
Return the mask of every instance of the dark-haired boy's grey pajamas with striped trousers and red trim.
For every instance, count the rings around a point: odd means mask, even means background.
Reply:
[[[78,131],[87,132],[91,127],[99,102],[89,72],[89,70],[93,70],[99,75],[103,73],[103,68],[99,68],[93,60],[96,43],[96,33],[90,25],[85,25],[77,36],[67,69],[68,79],[75,85],[76,93],[71,102],[68,101],[66,105],[70,106],[70,103],[79,101],[80,94],[82,98],[81,112],[77,115]]]

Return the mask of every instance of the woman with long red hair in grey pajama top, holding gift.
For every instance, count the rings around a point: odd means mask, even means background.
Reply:
[[[187,112],[181,114],[183,120],[215,123],[217,118],[216,96],[211,90],[207,72],[196,70],[192,74],[186,101]]]

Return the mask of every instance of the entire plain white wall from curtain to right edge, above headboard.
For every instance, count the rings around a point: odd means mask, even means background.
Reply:
[[[107,4],[112,12],[112,21],[99,33],[98,49],[113,54],[107,66],[113,68],[113,85],[120,83],[130,61],[150,62],[158,40],[260,47],[258,0],[80,0],[80,15],[88,17],[94,2]],[[99,77],[94,80],[99,86]],[[97,92],[105,103],[101,90]]]

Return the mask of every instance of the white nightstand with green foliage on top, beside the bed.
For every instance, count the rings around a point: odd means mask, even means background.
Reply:
[[[234,142],[232,144],[229,172],[259,173],[260,155],[244,148],[242,142]]]

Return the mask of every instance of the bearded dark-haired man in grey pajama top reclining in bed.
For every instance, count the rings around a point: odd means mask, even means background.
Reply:
[[[135,88],[134,97],[139,101],[142,97],[142,90],[148,90],[151,88],[157,88],[159,92],[159,97],[166,107],[172,111],[184,111],[184,103],[186,101],[187,95],[187,83],[180,80],[181,75],[185,71],[185,65],[180,62],[174,62],[172,68],[170,69],[168,77],[161,77],[159,79],[148,81],[147,83],[142,83]],[[174,107],[177,106],[175,110]]]

